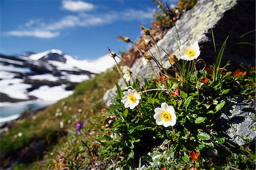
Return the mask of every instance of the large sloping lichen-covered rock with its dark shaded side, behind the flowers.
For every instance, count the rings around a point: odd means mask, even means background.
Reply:
[[[200,44],[201,55],[207,64],[215,61],[216,54],[213,50],[211,28],[213,28],[216,46],[220,48],[222,42],[227,36],[230,36],[226,46],[224,58],[231,60],[232,63],[249,64],[255,63],[255,48],[251,46],[237,45],[240,36],[255,29],[255,1],[238,1],[238,0],[201,0],[196,6],[187,11],[176,22],[179,31],[181,44],[189,40],[197,40]],[[176,52],[177,34],[175,27],[172,27],[163,39],[158,41],[158,46],[163,48],[167,53]],[[255,42],[255,36],[246,37],[246,40]],[[159,59],[156,47],[150,49],[151,53]],[[160,56],[163,63],[166,62],[166,53],[160,49]],[[242,56],[242,57],[241,57]],[[139,58],[131,67],[134,78],[150,78],[152,70],[156,69],[156,64],[151,61],[152,66],[144,65],[142,58]],[[232,64],[232,66],[235,66]],[[126,88],[122,79],[118,82],[121,88]],[[104,95],[104,101],[110,105],[113,96],[116,96],[116,87],[108,90]]]

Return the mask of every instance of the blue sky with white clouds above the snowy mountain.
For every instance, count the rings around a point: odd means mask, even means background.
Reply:
[[[151,0],[1,0],[2,54],[60,49],[79,59],[126,51],[117,36],[136,40],[150,27]],[[176,1],[169,1],[176,3]]]

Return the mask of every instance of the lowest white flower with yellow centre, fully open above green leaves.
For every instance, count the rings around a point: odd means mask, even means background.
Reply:
[[[155,114],[153,116],[157,125],[163,125],[164,127],[174,126],[176,124],[176,114],[174,107],[169,106],[166,103],[161,104],[161,108],[155,108]]]

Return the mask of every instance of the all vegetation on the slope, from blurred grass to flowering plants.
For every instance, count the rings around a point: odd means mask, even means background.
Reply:
[[[218,48],[213,31],[213,64],[200,67],[199,43],[181,44],[179,39],[179,50],[164,51],[168,59],[163,63],[162,47],[156,45],[159,28],[154,25],[162,25],[164,34],[196,1],[180,1],[173,11],[155,2],[160,12],[151,29],[141,26],[143,36],[137,43],[118,37],[133,48],[123,56],[109,49],[110,57],[121,59],[114,69],[80,83],[67,99],[17,121],[3,134],[1,167],[14,163],[14,169],[255,169],[255,139],[244,138],[243,146],[236,145],[223,131],[221,117],[233,100],[255,105],[255,67],[229,70],[230,63],[222,62],[229,37]],[[155,56],[146,52],[155,45]],[[149,67],[148,61],[156,64],[151,78],[131,73],[128,66],[139,57]],[[125,88],[116,84],[119,79]],[[117,95],[106,107],[102,97],[113,86]]]

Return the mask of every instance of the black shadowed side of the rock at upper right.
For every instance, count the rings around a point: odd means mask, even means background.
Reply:
[[[241,37],[253,29],[255,29],[255,1],[238,1],[234,8],[224,13],[222,19],[213,28],[217,52],[229,36],[222,64],[231,61],[230,69],[237,69],[240,64],[255,66],[255,46],[238,44],[240,42],[255,44],[255,31]],[[203,56],[209,64],[215,62],[215,53],[211,31],[209,30],[206,35],[209,41],[200,44],[200,56]]]

